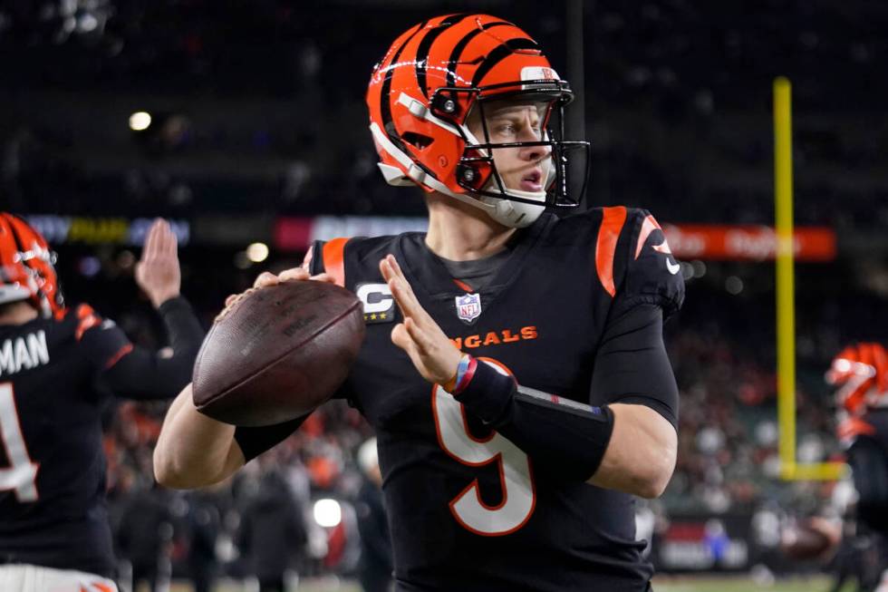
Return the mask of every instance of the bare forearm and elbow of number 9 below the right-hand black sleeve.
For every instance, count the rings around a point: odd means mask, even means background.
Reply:
[[[644,405],[613,403],[613,432],[593,485],[642,498],[659,497],[675,469],[678,437],[670,422]]]

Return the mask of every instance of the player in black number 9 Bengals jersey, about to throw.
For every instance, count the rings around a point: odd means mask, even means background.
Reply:
[[[662,324],[684,285],[646,211],[545,213],[583,191],[588,143],[565,141],[562,121],[572,97],[514,24],[410,27],[367,103],[382,173],[425,190],[428,233],[315,243],[304,268],[257,278],[312,275],[364,303],[366,341],[338,394],[377,432],[402,592],[650,589],[632,496],[659,496],[674,468]],[[301,421],[214,422],[188,388],[155,474],[222,480]]]

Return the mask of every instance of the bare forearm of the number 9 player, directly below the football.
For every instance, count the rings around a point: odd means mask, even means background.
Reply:
[[[188,384],[170,405],[154,449],[154,476],[176,489],[192,489],[226,479],[244,464],[235,426],[198,412]]]

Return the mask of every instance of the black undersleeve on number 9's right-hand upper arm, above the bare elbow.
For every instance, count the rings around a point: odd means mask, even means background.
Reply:
[[[646,405],[678,428],[679,387],[663,345],[660,306],[633,306],[608,324],[595,354],[589,397],[593,404]]]

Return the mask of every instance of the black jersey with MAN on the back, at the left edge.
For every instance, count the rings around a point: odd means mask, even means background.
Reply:
[[[94,381],[132,348],[85,305],[0,325],[0,563],[113,574]]]

